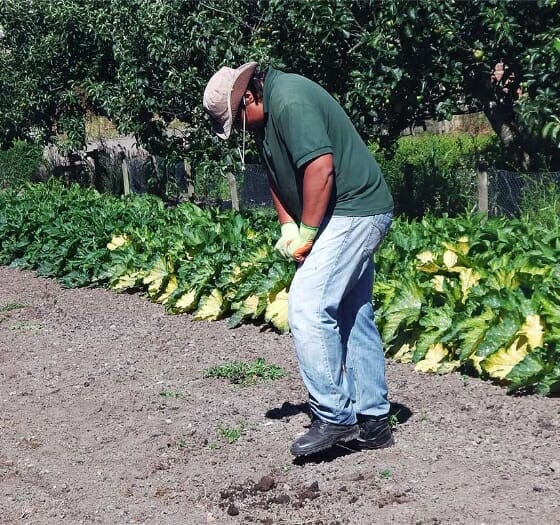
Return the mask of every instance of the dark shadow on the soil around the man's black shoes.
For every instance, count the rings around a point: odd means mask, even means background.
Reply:
[[[265,417],[268,419],[285,419],[296,416],[298,414],[305,413],[309,416],[309,428],[311,425],[311,412],[309,410],[309,404],[307,402],[303,403],[290,403],[285,401],[279,408],[272,408],[265,413]],[[399,425],[406,423],[412,416],[412,411],[405,405],[400,403],[391,403],[391,408],[389,409],[389,424],[393,427],[393,431],[398,428]],[[360,452],[362,449],[356,441],[351,441],[349,443],[339,443],[330,449],[323,450],[317,454],[310,454],[309,456],[296,457],[294,459],[295,465],[304,465],[306,463],[323,463],[329,462],[333,459],[340,458],[343,456],[348,456],[350,454],[355,454]]]

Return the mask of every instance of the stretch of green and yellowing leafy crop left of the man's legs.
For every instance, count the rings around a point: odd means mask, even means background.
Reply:
[[[289,286],[294,269],[274,253],[276,228],[271,210],[166,209],[156,197],[119,199],[49,181],[0,193],[0,264],[69,287],[141,290],[170,313],[235,313],[235,326],[262,318]]]

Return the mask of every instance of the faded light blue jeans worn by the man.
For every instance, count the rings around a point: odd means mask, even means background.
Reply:
[[[311,411],[340,425],[389,412],[373,252],[392,214],[328,218],[290,286],[288,320]]]

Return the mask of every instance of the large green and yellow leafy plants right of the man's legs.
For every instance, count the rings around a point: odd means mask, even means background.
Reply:
[[[399,221],[377,257],[387,352],[419,371],[557,391],[559,250],[558,228],[523,220]]]

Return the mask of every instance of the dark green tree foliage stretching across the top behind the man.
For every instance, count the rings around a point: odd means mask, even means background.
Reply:
[[[204,85],[256,59],[320,82],[383,146],[425,118],[479,110],[512,162],[560,162],[557,0],[5,0],[0,27],[4,147],[37,133],[77,147],[91,112],[195,172],[221,164],[235,145],[211,136]]]

